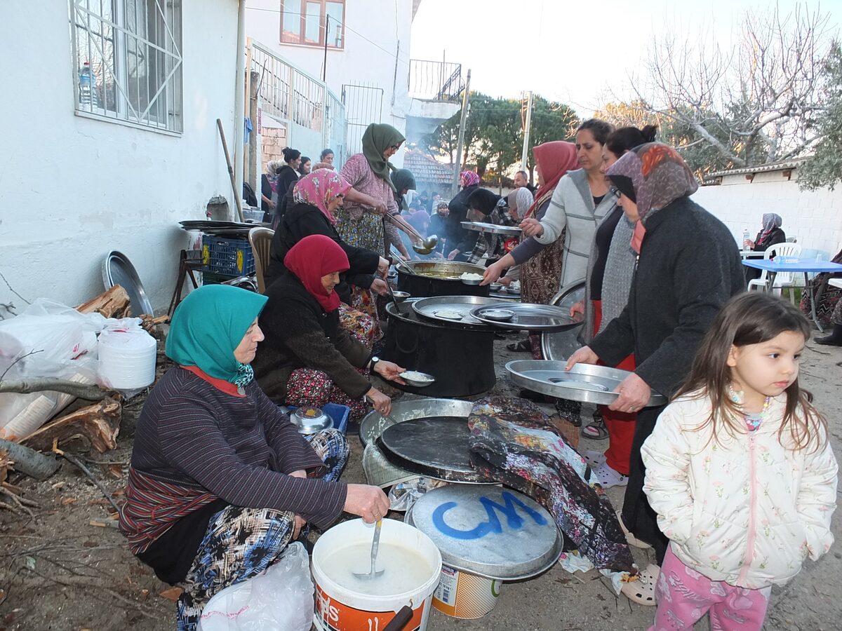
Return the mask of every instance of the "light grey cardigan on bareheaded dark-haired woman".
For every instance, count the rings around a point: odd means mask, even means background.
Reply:
[[[568,172],[559,181],[552,193],[550,207],[541,220],[544,232],[536,236],[536,241],[549,245],[567,228],[559,287],[576,283],[587,275],[596,226],[610,213],[616,201],[615,195],[605,194],[600,204],[594,207],[588,173],[584,169]]]

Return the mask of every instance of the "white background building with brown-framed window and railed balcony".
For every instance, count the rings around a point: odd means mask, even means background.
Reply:
[[[281,75],[290,72],[291,77],[297,69],[316,80],[301,79],[299,74],[287,81],[281,76],[275,79],[279,87],[274,93],[285,93],[293,85],[290,103],[318,101],[318,82],[324,82],[344,107],[345,137],[333,133],[330,141],[338,163],[361,151],[360,140],[370,123],[387,123],[404,135],[408,123],[411,133],[413,128],[429,132],[458,109],[458,104],[442,101],[458,98],[461,66],[409,58],[413,16],[421,1],[248,0],[246,29],[254,45],[293,67],[282,68]],[[263,67],[253,61],[252,70],[262,72]],[[270,100],[265,84],[261,85],[261,96]],[[331,96],[324,99],[327,110]],[[286,144],[317,161],[325,148],[317,143],[326,135],[318,132],[319,125],[310,130],[290,125],[288,110],[275,114],[264,108],[263,114],[262,129],[274,128],[271,135],[281,135]],[[272,143],[278,144],[274,139]],[[266,151],[263,154],[265,162]],[[275,149],[272,156],[276,155]],[[402,151],[392,158],[397,166],[402,160]]]

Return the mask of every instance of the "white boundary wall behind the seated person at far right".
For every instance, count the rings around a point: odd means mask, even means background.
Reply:
[[[786,236],[796,236],[804,250],[823,250],[832,257],[842,246],[842,188],[802,191],[797,169],[787,180],[781,171],[722,178],[719,186],[702,186],[693,195],[722,220],[742,244],[743,229],[757,235],[764,213],[777,213]]]

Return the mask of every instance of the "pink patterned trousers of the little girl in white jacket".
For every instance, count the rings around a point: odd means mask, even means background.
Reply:
[[[760,631],[770,591],[771,587],[749,590],[711,581],[684,565],[668,547],[655,588],[658,611],[649,631],[691,629],[707,612],[711,612],[711,631]]]

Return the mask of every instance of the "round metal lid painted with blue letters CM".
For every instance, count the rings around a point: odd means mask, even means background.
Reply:
[[[433,540],[445,565],[498,581],[541,574],[562,552],[552,515],[502,486],[442,486],[421,496],[405,521]]]

